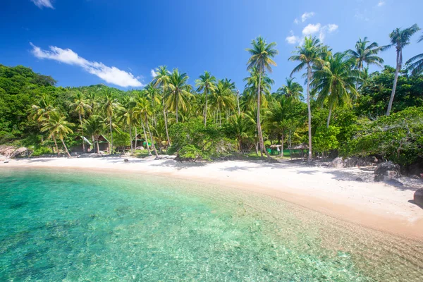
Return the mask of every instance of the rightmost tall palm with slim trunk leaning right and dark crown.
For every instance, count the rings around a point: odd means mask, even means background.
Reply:
[[[400,70],[403,66],[403,48],[407,46],[408,44],[410,44],[410,38],[419,30],[420,28],[417,24],[414,24],[411,27],[405,28],[404,30],[401,30],[400,28],[396,28],[389,35],[389,37],[391,38],[391,44],[385,47],[382,47],[382,49],[384,50],[389,49],[391,47],[395,47],[396,54],[397,54],[395,77],[393,79],[392,93],[388,103],[388,110],[386,110],[386,116],[389,116],[389,114],[391,114],[393,97],[395,97],[396,85],[398,82],[398,73],[400,73]]]

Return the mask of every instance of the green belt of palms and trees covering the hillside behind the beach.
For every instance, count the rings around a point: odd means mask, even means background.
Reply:
[[[112,148],[133,153],[131,140],[140,134],[152,145],[149,153],[167,150],[182,159],[269,157],[271,145],[282,145],[283,157],[284,148],[303,144],[310,160],[379,155],[403,166],[422,163],[423,54],[402,58],[418,31],[417,25],[393,30],[388,46],[364,37],[343,52],[305,38],[289,57],[298,65],[283,85],[269,75],[276,44],[262,37],[247,49],[245,85],[207,71],[190,85],[188,74],[160,66],[142,90],[56,87],[54,78],[30,68],[0,65],[0,144],[37,155],[68,152],[81,135],[94,144],[104,135]],[[396,66],[381,59],[390,47]],[[371,73],[372,65],[379,71]]]

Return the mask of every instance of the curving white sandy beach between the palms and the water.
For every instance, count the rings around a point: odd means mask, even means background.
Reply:
[[[128,159],[124,162],[123,159]],[[322,168],[290,161],[180,163],[170,157],[39,158],[0,162],[11,167],[90,168],[149,173],[259,192],[329,216],[388,233],[423,240],[423,209],[409,202],[422,180],[401,178],[403,185],[370,182],[369,168]],[[364,181],[357,181],[357,177]]]

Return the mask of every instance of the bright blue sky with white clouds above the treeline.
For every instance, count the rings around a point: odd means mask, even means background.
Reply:
[[[152,69],[166,65],[188,73],[190,83],[211,71],[242,90],[245,48],[262,35],[277,43],[276,90],[294,68],[288,57],[305,34],[324,38],[334,51],[353,48],[364,36],[388,44],[395,27],[423,28],[421,11],[421,0],[4,0],[0,63],[29,66],[61,86],[123,90],[142,87]],[[423,52],[422,34],[405,48],[405,61]],[[381,56],[395,62],[394,49]]]

